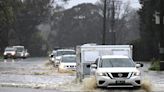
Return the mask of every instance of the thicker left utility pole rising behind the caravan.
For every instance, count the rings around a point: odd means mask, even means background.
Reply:
[[[106,0],[104,0],[104,10],[103,10],[103,33],[102,33],[102,45],[106,44]]]

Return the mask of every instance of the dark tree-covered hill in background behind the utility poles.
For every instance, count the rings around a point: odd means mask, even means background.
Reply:
[[[75,47],[85,43],[101,44],[103,16],[100,14],[100,9],[98,5],[80,4],[68,10],[55,12],[52,18],[52,31],[48,37],[50,48]],[[129,7],[128,11],[126,17],[116,19],[118,44],[126,44],[139,38],[136,10]],[[109,30],[106,35],[106,41],[110,42]]]

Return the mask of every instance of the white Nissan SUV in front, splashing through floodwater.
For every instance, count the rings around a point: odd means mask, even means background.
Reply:
[[[107,55],[99,57],[91,70],[98,87],[140,87],[141,72],[137,68],[142,66],[128,56]]]

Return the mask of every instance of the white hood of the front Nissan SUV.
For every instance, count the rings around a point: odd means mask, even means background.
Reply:
[[[125,68],[125,67],[113,67],[113,68],[98,68],[97,72],[139,72],[136,67]]]

